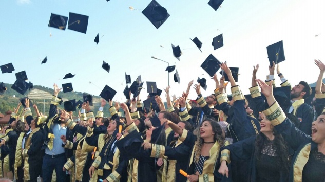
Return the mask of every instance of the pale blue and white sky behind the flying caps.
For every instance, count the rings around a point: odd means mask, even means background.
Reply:
[[[217,11],[206,0],[158,0],[170,14],[159,29],[141,13],[150,2],[0,1],[0,65],[12,62],[15,67],[13,73],[1,74],[0,82],[12,84],[14,73],[25,70],[34,85],[72,82],[75,91],[97,96],[108,85],[117,91],[113,100],[121,102],[124,72],[132,81],[141,75],[142,81],[155,81],[160,89],[168,85],[167,63],[151,58],[155,56],[176,65],[181,81],[174,82],[175,71],[169,74],[171,94],[180,96],[189,81],[203,77],[208,86],[201,93],[209,95],[215,83],[200,65],[213,54],[228,66],[239,67],[238,85],[248,94],[253,65],[260,65],[258,78],[264,80],[269,74],[268,45],[283,40],[286,60],[280,63],[281,72],[293,85],[301,80],[316,82],[319,69],[314,59],[325,61],[323,0],[225,0]],[[48,27],[51,13],[69,16],[69,12],[89,16],[86,34]],[[213,50],[212,39],[221,33],[224,46]],[[189,39],[195,37],[203,43],[203,53]],[[180,61],[173,56],[171,43],[180,46]],[[48,61],[41,65],[45,57]],[[110,73],[101,68],[103,61],[111,66]],[[74,78],[62,80],[67,73]],[[276,83],[279,86],[277,76]],[[140,96],[144,100],[146,90]],[[193,88],[189,98],[196,98]]]

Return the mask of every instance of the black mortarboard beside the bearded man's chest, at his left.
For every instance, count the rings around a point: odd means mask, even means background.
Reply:
[[[283,110],[290,106],[291,86],[281,86],[273,88],[273,96]]]

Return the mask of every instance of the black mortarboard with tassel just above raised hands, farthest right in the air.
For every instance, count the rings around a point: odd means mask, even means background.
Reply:
[[[270,61],[270,65],[273,65],[272,62],[278,64],[285,60],[282,40],[267,46],[266,50],[267,50],[267,56],[269,56],[268,58]]]

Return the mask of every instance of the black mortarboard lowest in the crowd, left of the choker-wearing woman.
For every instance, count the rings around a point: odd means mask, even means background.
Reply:
[[[123,139],[118,140],[115,145],[118,147],[120,155],[124,156],[125,160],[128,161],[139,155],[142,143],[143,139],[141,138],[141,133],[132,131]]]

